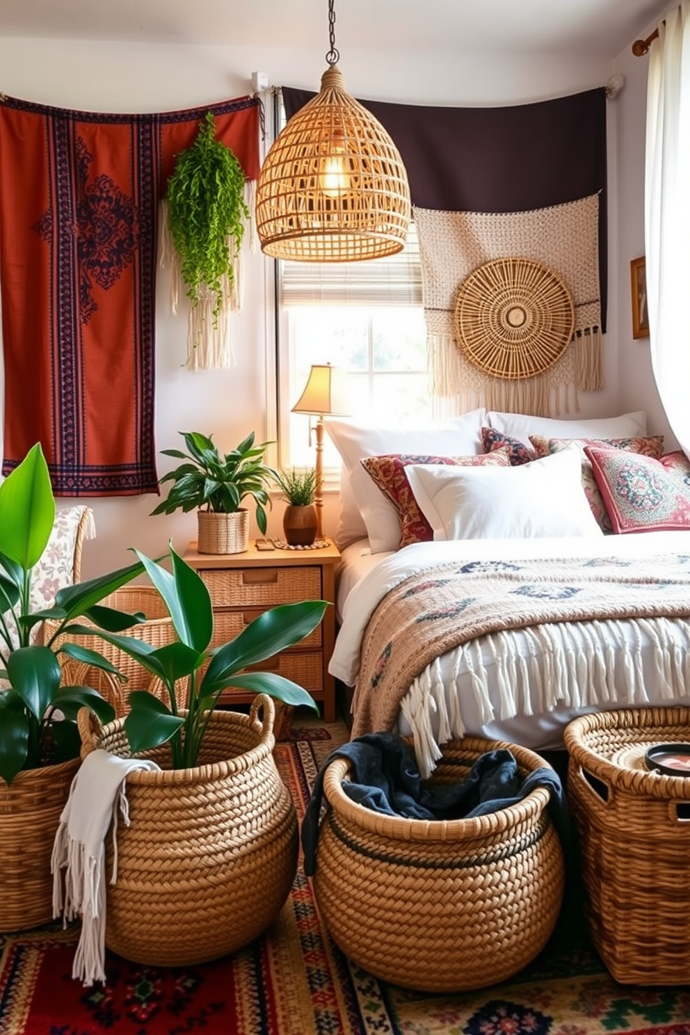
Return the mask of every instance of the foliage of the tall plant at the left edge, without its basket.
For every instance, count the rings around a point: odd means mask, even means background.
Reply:
[[[63,653],[108,672],[117,670],[95,651],[63,642],[78,616],[95,626],[122,631],[143,620],[99,604],[106,596],[141,572],[132,564],[89,582],[58,591],[55,605],[31,611],[31,582],[53,529],[55,500],[46,460],[35,445],[0,485],[0,777],[10,783],[22,769],[77,758],[80,736],[76,718],[86,706],[101,720],[113,708],[89,686],[63,686],[57,655]],[[34,627],[57,620],[55,633],[37,643]],[[72,626],[73,628],[73,626]],[[93,628],[88,629],[93,632]]]

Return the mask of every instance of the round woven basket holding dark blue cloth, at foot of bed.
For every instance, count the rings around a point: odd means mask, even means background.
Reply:
[[[484,751],[508,747],[519,772],[545,766],[502,741],[443,746],[438,782],[463,779]],[[352,801],[347,760],[328,766],[314,894],[329,931],[377,977],[428,992],[502,981],[543,948],[564,885],[561,844],[539,788],[521,802],[467,820],[384,816]]]

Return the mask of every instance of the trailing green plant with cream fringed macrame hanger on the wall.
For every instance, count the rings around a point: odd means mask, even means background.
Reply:
[[[234,363],[230,314],[242,301],[240,249],[253,212],[253,182],[216,140],[208,112],[190,148],[177,155],[160,219],[160,265],[171,271],[171,310],[188,299],[188,369]]]

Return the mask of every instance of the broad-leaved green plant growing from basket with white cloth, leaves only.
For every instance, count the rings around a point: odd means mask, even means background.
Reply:
[[[172,548],[170,571],[144,554],[136,553],[168,608],[178,639],[154,648],[133,637],[98,632],[158,676],[168,691],[169,705],[147,690],[129,693],[130,710],[124,729],[132,751],[149,750],[170,741],[174,769],[196,765],[218,699],[233,686],[268,693],[288,705],[316,709],[306,690],[284,676],[243,670],[308,635],[322,620],[328,607],[326,601],[305,600],[273,608],[256,618],[235,640],[211,648],[213,609],[203,579]],[[179,709],[177,702],[179,680],[186,680],[187,685],[184,710]]]

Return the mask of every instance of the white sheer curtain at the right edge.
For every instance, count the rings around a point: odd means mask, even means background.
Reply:
[[[650,49],[644,241],[652,368],[690,455],[690,0]]]

